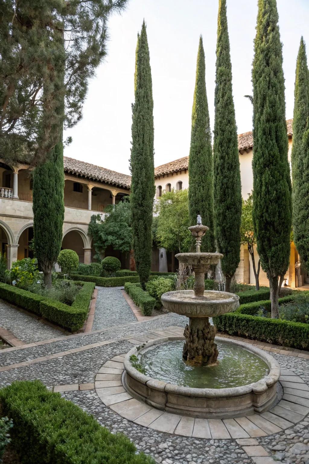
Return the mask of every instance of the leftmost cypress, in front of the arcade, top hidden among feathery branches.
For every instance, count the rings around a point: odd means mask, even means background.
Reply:
[[[57,98],[56,127],[54,130],[58,131],[58,142],[48,153],[46,161],[35,168],[32,191],[34,250],[39,268],[44,273],[44,283],[48,288],[51,287],[51,271],[61,249],[64,219],[63,77],[65,54],[62,32],[59,32],[58,42],[58,52],[55,53],[53,62],[50,64],[50,68],[53,70],[53,79],[50,79],[49,83]],[[48,105],[48,102],[47,98],[44,105]]]

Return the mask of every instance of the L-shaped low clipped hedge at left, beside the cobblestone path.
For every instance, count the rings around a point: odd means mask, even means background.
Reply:
[[[93,282],[76,282],[82,285],[71,306],[45,296],[0,283],[0,298],[21,308],[56,322],[72,331],[81,329],[88,316],[89,303],[95,288]]]

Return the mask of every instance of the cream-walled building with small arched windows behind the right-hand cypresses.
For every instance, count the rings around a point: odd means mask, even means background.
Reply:
[[[292,119],[287,121],[287,134],[289,140],[289,162],[291,159],[292,149]],[[252,173],[252,157],[253,157],[253,136],[252,132],[245,132],[238,135],[238,150],[240,160],[240,175],[241,175],[241,193],[246,200],[248,194],[253,189],[253,173]],[[171,188],[177,190],[189,187],[189,156],[179,158],[155,168],[155,184],[156,197],[161,196],[162,192],[169,191]],[[207,224],[206,224],[207,225]],[[258,263],[259,257],[255,248],[255,262]],[[164,250],[159,252],[160,270],[166,269],[166,266],[171,266],[170,258],[164,253]],[[246,245],[241,245],[240,248],[240,264],[235,273],[236,280],[245,284],[255,284],[253,273],[252,260]],[[299,266],[299,256],[294,243],[290,247],[290,267],[285,275],[286,283],[292,287],[301,287],[309,283],[309,276]],[[259,282],[261,285],[268,285],[268,279],[265,272],[261,269],[259,274]]]

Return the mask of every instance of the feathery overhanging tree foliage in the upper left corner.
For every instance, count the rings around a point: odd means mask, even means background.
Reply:
[[[57,144],[59,124],[72,127],[81,119],[88,79],[106,55],[107,19],[125,5],[126,0],[1,2],[1,158],[38,163]],[[63,54],[59,32],[66,43],[64,79],[55,66]],[[65,114],[59,115],[63,95]]]

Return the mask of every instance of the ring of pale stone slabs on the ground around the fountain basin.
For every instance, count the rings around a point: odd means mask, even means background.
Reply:
[[[167,337],[163,340],[169,338],[175,337]],[[182,337],[176,338],[183,339]],[[161,341],[162,339],[160,339]],[[232,342],[231,339],[229,341]],[[150,346],[151,342],[145,345]],[[246,345],[246,349],[250,351],[254,348],[251,345],[247,346],[245,343],[243,345]],[[221,419],[205,419],[190,417],[190,414],[185,410],[180,413],[171,413],[158,409],[137,398],[136,393],[134,393],[133,397],[133,394],[127,391],[125,360],[128,359],[133,350],[130,350],[127,354],[115,356],[104,363],[96,375],[95,389],[106,406],[136,424],[159,432],[185,437],[208,439],[256,438],[282,432],[303,421],[309,413],[304,398],[305,395],[309,394],[309,387],[298,375],[289,371],[284,371],[279,378],[279,382],[277,382],[279,386],[277,400],[272,402],[269,407],[266,407],[266,411],[264,410],[262,413],[244,411],[243,415],[240,416],[234,414],[232,417],[228,415],[226,417],[222,416]],[[264,351],[263,354],[265,355]],[[269,357],[273,360],[271,356]],[[152,381],[155,382],[154,379]]]

